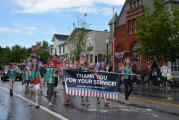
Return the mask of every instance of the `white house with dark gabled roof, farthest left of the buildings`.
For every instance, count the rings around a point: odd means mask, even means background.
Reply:
[[[68,35],[54,34],[52,38],[53,45],[50,47],[51,55],[57,55],[60,59],[67,57],[69,47],[67,45]]]

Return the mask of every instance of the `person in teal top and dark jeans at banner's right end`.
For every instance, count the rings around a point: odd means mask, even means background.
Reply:
[[[129,96],[132,93],[132,68],[130,66],[130,59],[127,58],[125,60],[125,68],[124,68],[124,87],[125,87],[125,104],[129,104]]]

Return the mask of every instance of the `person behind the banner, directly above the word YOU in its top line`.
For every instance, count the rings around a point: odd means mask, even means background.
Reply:
[[[98,72],[108,72],[107,65],[104,61],[102,61],[99,65],[99,68],[97,70]],[[97,97],[97,104],[100,104],[99,97]],[[104,98],[104,105],[107,107],[109,105],[109,102],[106,98]]]

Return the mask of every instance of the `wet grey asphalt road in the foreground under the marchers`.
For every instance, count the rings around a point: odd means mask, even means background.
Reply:
[[[0,120],[179,120],[176,115],[162,113],[149,108],[140,108],[117,102],[110,102],[104,107],[103,100],[96,105],[96,99],[90,98],[89,106],[81,106],[80,98],[73,97],[73,105],[63,106],[63,89],[59,87],[58,97],[53,99],[53,106],[48,106],[46,87],[40,96],[40,109],[28,106],[20,82],[15,83],[15,94],[9,96],[8,82],[0,82]]]

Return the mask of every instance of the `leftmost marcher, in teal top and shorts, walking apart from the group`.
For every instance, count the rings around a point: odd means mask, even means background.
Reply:
[[[17,73],[16,66],[11,63],[8,70],[10,96],[13,96],[14,80],[16,78],[16,73]]]

